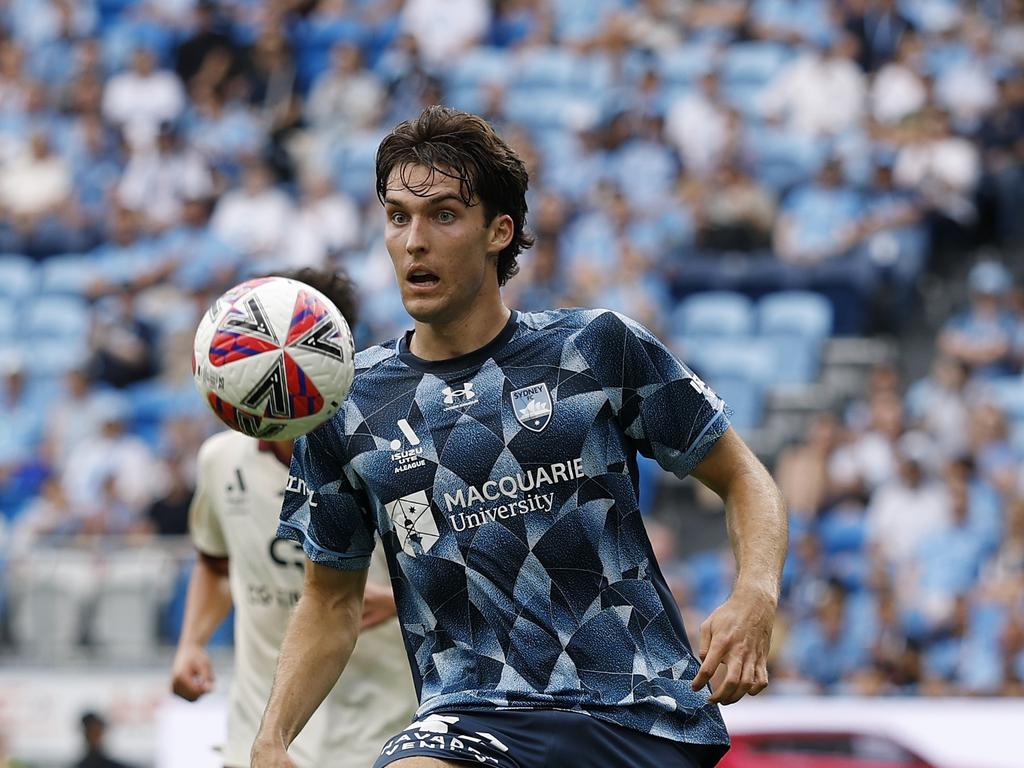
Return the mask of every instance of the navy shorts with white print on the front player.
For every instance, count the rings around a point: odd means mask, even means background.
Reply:
[[[431,757],[494,768],[708,768],[724,745],[684,744],[559,710],[436,712],[389,738],[374,768]]]

